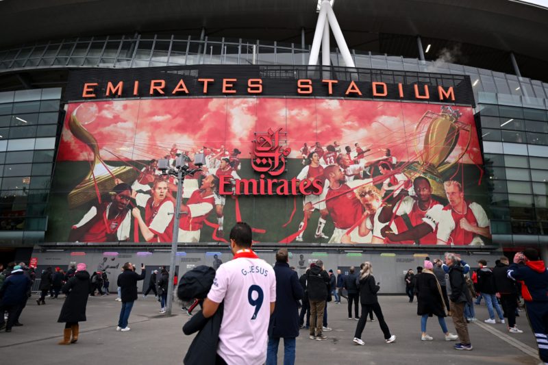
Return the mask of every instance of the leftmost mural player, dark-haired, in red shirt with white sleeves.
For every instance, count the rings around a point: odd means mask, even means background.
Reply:
[[[129,240],[132,225],[127,203],[132,199],[132,188],[121,183],[112,189],[111,201],[94,205],[71,229],[73,242],[115,242]]]

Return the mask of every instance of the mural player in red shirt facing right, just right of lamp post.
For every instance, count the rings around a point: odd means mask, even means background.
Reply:
[[[181,203],[178,242],[199,242],[203,221],[213,210],[218,186],[219,177],[208,175],[202,179],[199,190],[192,192],[186,203]]]

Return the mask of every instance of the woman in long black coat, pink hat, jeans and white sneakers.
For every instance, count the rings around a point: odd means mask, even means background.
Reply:
[[[435,315],[438,317],[438,323],[440,323],[443,333],[445,333],[445,340],[456,341],[458,336],[449,333],[445,324],[447,308],[445,307],[443,292],[438,279],[432,271],[433,268],[434,264],[425,260],[423,273],[417,276],[415,281],[416,300],[418,302],[416,314],[421,316],[421,340],[434,340],[432,336],[428,336],[426,333],[426,322],[428,317]]]

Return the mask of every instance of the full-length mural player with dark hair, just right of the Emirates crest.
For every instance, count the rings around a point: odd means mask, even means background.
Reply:
[[[318,153],[315,151],[310,152],[308,154],[308,165],[304,166],[299,175],[297,175],[297,179],[299,181],[302,181],[304,179],[309,179],[310,181],[319,180],[321,181],[321,185],[323,186],[323,191],[319,195],[305,195],[304,197],[304,217],[301,224],[299,224],[299,231],[303,229],[305,222],[308,222],[310,217],[312,216],[312,212],[314,212],[315,209],[320,211],[320,218],[318,220],[318,226],[316,227],[316,233],[314,234],[315,238],[328,238],[323,234],[323,227],[325,226],[327,216],[329,215],[329,212],[327,212],[327,209],[325,208],[325,194],[327,194],[327,186],[325,186],[325,177],[323,176],[323,166],[320,164],[320,158],[318,156]],[[303,241],[303,234],[304,231],[295,238],[297,242]]]

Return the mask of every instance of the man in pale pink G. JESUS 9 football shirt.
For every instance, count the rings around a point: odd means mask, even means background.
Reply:
[[[247,223],[236,223],[229,238],[234,259],[217,269],[202,313],[210,318],[224,301],[217,364],[264,364],[276,276],[272,266],[251,250]]]

